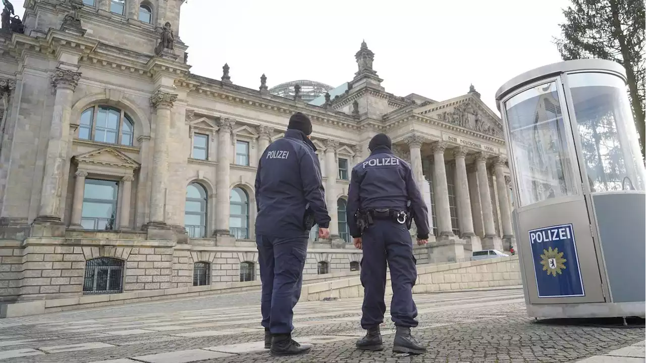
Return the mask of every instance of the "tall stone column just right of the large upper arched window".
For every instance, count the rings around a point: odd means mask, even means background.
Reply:
[[[148,225],[166,226],[166,196],[168,189],[168,140],[171,134],[171,110],[176,94],[158,90],[151,97],[151,107],[156,109],[154,149],[152,154],[151,214]]]

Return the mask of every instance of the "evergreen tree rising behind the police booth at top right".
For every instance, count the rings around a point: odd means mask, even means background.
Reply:
[[[572,0],[556,45],[563,60],[601,58],[626,70],[630,105],[646,157],[646,5],[644,0]]]

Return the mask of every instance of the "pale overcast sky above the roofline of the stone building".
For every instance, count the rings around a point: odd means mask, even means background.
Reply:
[[[20,3],[20,1],[16,1]],[[560,61],[568,0],[187,0],[180,38],[191,72],[258,88],[311,79],[337,87],[357,71],[362,39],[388,92],[441,101],[469,85],[495,110],[508,79]]]

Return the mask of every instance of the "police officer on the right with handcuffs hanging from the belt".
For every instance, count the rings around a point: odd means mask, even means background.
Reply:
[[[410,328],[417,326],[412,294],[417,267],[408,228],[410,218],[414,218],[417,244],[428,243],[428,209],[410,165],[393,155],[390,138],[378,134],[370,140],[368,149],[370,156],[352,169],[348,191],[348,227],[355,247],[363,250],[361,327],[368,331],[356,346],[361,350],[383,349],[379,324],[386,312],[388,262],[393,289],[390,315],[397,327],[393,352],[421,354],[426,347],[410,333]]]

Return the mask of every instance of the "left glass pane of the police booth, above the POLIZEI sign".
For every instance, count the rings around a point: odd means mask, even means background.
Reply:
[[[521,205],[576,194],[556,82],[505,103]]]

